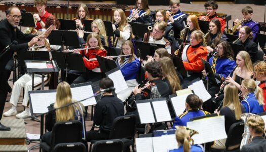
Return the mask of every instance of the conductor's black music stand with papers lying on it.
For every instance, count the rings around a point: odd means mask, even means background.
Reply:
[[[27,68],[27,63],[46,63],[47,66],[50,64],[52,65],[52,68],[46,68],[46,69],[37,69],[37,68]],[[42,75],[42,90],[44,90],[44,78],[45,74],[51,73],[51,72],[58,72],[58,66],[56,62],[52,62],[49,60],[46,61],[37,61],[37,60],[25,60],[25,65],[28,73],[32,74],[32,91],[34,90],[34,74],[41,74]],[[37,119],[35,116],[31,116],[31,119],[36,119],[38,122],[44,121],[44,117],[41,117],[41,120]]]

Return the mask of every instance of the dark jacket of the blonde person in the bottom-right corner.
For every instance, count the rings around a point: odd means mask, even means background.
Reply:
[[[241,149],[241,152],[258,152],[266,151],[266,140],[263,136],[257,136],[252,139],[252,141],[244,145]]]

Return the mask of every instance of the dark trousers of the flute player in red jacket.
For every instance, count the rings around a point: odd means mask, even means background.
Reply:
[[[101,80],[102,73],[93,72],[92,70],[86,69],[86,73],[82,73],[72,84],[81,84],[85,82],[96,82]],[[72,85],[71,84],[71,85]]]

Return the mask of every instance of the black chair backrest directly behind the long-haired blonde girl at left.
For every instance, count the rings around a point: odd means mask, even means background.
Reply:
[[[80,121],[57,122],[52,130],[51,146],[58,143],[82,141],[82,124]]]

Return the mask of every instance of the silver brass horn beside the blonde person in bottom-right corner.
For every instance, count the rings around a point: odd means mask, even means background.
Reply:
[[[242,113],[241,114],[241,119],[244,121],[245,123],[245,128],[244,128],[244,133],[242,135],[243,139],[241,140],[241,144],[240,144],[240,150],[242,149],[243,145],[246,145],[248,143],[251,142],[252,140],[252,137],[250,136],[250,132],[249,132],[249,128],[248,128],[248,125],[246,124],[247,123],[247,119],[250,117],[250,116],[254,116],[255,114],[253,113]]]

